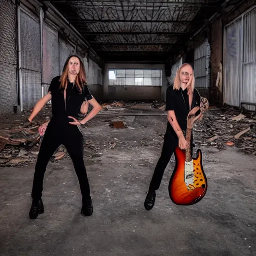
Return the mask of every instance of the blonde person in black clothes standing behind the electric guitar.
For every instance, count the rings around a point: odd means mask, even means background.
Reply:
[[[185,132],[187,127],[187,115],[195,106],[200,106],[199,92],[194,88],[194,71],[190,64],[184,63],[177,71],[173,86],[166,91],[167,129],[160,159],[158,160],[153,177],[146,195],[144,206],[151,210],[154,206],[156,193],[159,189],[162,176],[167,167],[174,149],[187,148]],[[199,119],[202,118],[200,113]],[[191,143],[192,144],[192,143]]]

